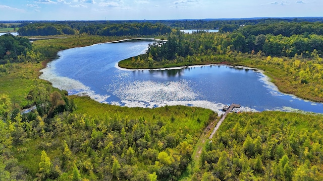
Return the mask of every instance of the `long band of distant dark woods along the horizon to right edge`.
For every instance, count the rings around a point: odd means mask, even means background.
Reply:
[[[315,23],[314,23],[315,22]],[[264,18],[264,19],[205,19],[205,20],[131,20],[131,21],[36,21],[20,25],[21,36],[48,36],[87,33],[100,36],[151,36],[170,33],[179,29],[220,29],[220,32],[242,31],[244,36],[273,33],[284,36],[293,34],[321,34],[323,18]],[[290,30],[290,31],[286,31]],[[262,33],[258,33],[262,31]],[[258,33],[258,34],[257,34]]]

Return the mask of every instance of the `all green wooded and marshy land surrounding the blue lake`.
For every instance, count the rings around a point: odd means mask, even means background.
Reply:
[[[43,21],[15,27],[19,36],[0,36],[0,180],[323,179],[320,114],[229,114],[208,140],[221,117],[211,110],[101,104],[39,79],[39,70],[60,50],[156,38],[167,42],[152,43],[119,66],[243,65],[263,70],[281,92],[323,102],[323,19]],[[28,39],[40,37],[55,39]]]

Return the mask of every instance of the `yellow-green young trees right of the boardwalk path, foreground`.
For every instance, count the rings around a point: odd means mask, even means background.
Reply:
[[[322,117],[231,114],[205,144],[192,180],[322,180]]]

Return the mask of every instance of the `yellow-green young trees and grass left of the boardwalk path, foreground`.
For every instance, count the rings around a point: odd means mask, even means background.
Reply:
[[[3,180],[178,180],[193,145],[216,117],[183,106],[122,108],[66,97],[38,82],[20,114],[1,95]]]

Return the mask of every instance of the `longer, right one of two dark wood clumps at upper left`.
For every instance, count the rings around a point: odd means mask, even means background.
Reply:
[[[166,25],[150,23],[92,25],[80,29],[80,34],[100,36],[158,36],[170,32],[171,28]]]

